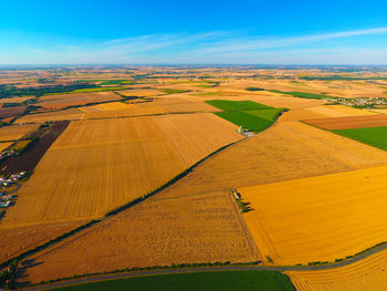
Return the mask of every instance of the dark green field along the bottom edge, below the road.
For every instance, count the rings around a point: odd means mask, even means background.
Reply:
[[[198,272],[117,279],[55,290],[74,291],[294,291],[284,274],[274,271]]]

